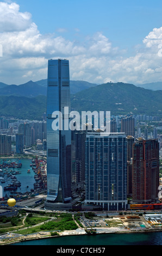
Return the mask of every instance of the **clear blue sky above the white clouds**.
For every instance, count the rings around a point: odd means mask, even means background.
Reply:
[[[161,0],[19,0],[20,11],[29,11],[42,34],[59,34],[66,39],[102,32],[115,46],[131,48],[162,25]],[[78,29],[79,32],[75,29]]]

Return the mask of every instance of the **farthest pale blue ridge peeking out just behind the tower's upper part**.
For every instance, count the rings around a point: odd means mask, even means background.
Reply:
[[[47,88],[47,79],[36,81],[35,83],[39,84],[39,86],[43,86]],[[97,86],[97,84],[89,83],[86,81],[70,81],[71,94],[75,94],[80,92],[81,90],[85,90],[95,86]]]

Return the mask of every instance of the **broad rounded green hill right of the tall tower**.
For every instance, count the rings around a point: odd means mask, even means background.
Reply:
[[[152,91],[126,83],[106,83],[71,95],[76,111],[111,111],[111,114],[162,113],[162,90]]]

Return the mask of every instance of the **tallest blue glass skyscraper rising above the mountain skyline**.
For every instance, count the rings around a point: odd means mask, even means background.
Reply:
[[[68,113],[64,115],[64,108]],[[67,110],[67,108],[66,108]],[[53,130],[52,124],[63,116],[63,129]],[[66,59],[48,60],[47,82],[47,199],[46,204],[68,203],[71,200],[71,130],[64,130],[69,124],[70,74]]]

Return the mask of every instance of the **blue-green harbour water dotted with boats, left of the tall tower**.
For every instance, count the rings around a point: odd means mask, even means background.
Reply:
[[[2,159],[1,159],[1,163],[2,163]],[[2,181],[3,179],[5,180],[5,183],[1,183],[0,185],[2,186],[2,188],[8,186],[9,184],[11,184],[11,177],[7,177],[7,173],[8,174],[13,174],[14,172],[18,171],[20,172],[20,174],[16,174],[15,177],[17,179],[17,181],[21,182],[21,186],[17,187],[16,192],[21,192],[21,193],[26,193],[26,192],[30,192],[31,189],[34,188],[34,183],[35,183],[35,179],[34,179],[34,175],[35,173],[33,172],[32,167],[30,167],[30,164],[32,163],[31,159],[6,159],[6,162],[16,162],[19,163],[19,161],[21,161],[22,163],[22,167],[21,168],[8,168],[6,170],[4,170],[4,168],[1,168],[2,171],[0,172],[0,180]],[[30,169],[30,173],[27,173],[27,170]],[[3,190],[3,197],[5,197],[5,195],[7,194],[7,196],[11,195],[11,191],[4,191]]]

